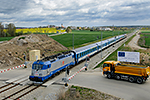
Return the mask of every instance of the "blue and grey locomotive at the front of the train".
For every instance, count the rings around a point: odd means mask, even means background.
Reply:
[[[45,57],[32,64],[32,73],[29,77],[31,81],[44,82],[53,74],[75,65],[74,52],[65,52],[54,56]]]

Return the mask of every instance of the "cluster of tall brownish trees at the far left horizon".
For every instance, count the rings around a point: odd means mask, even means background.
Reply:
[[[4,31],[4,29],[6,31]],[[0,37],[10,37],[10,36],[16,36],[16,27],[13,23],[6,24],[5,27],[0,22]]]

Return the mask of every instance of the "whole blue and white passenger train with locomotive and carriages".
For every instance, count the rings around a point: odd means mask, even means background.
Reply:
[[[62,52],[37,60],[32,64],[32,71],[29,79],[35,82],[45,82],[57,72],[60,72],[71,65],[80,63],[85,60],[87,56],[91,57],[100,52],[100,50],[103,50],[126,37],[126,34],[115,36],[72,51]]]

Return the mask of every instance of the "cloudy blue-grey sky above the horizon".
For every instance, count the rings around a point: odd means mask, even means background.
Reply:
[[[16,27],[150,25],[150,0],[0,0],[0,22]]]

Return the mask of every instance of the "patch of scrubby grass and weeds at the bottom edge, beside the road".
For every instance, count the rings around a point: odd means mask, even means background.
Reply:
[[[63,94],[63,95],[62,95]],[[68,91],[61,93],[58,100],[120,100],[121,98],[89,89],[72,85]]]

